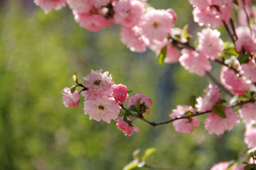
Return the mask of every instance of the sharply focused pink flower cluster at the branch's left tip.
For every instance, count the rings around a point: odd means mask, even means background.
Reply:
[[[130,136],[134,131],[139,132],[139,129],[131,123],[131,120],[127,118],[124,121],[124,117],[119,118],[121,105],[128,99],[128,91],[125,85],[116,85],[112,81],[112,76],[109,72],[101,73],[100,71],[91,70],[91,74],[83,77],[84,88],[82,96],[84,97],[84,114],[89,115],[89,119],[100,121],[101,119],[107,123],[111,120],[117,121],[117,126],[122,130],[125,135]],[[62,90],[63,103],[66,107],[78,107],[79,106],[79,93],[75,89],[71,93],[71,89],[65,87]],[[152,104],[150,98],[144,94],[136,94],[132,96],[128,102],[128,107],[136,105],[136,101],[140,98],[139,111],[149,114],[149,108]]]

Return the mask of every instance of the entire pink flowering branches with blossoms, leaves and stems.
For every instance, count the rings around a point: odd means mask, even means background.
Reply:
[[[173,122],[174,129],[191,133],[200,122],[196,116],[209,114],[204,127],[209,134],[221,135],[238,125],[246,125],[244,141],[249,149],[256,147],[256,7],[253,0],[189,0],[192,15],[199,26],[196,42],[188,34],[188,26],[174,27],[177,16],[173,9],[155,9],[147,0],[34,0],[46,13],[66,4],[74,19],[85,29],[99,31],[105,26],[119,24],[120,40],[134,52],[155,51],[160,64],[179,62],[190,73],[209,76],[212,83],[203,91],[204,96],[190,98],[190,106],[178,105],[169,115],[172,119],[155,123],[144,118],[152,104],[144,94],[129,98],[125,85],[116,85],[108,72],[91,71],[83,77],[84,85],[65,87],[63,102],[66,107],[79,105],[79,93],[84,97],[84,112],[90,119],[113,119],[126,135],[139,129],[132,123],[141,119],[151,126]],[[236,14],[236,15],[233,15]],[[224,42],[217,30],[223,26],[231,42]],[[211,63],[221,65],[219,80],[210,74]],[[77,87],[82,87],[78,93]],[[221,90],[220,90],[221,89]],[[231,96],[230,101],[220,98],[221,91]],[[253,161],[231,169],[255,169],[256,152],[250,152]],[[214,165],[211,170],[226,170],[227,162]],[[230,170],[231,170],[230,169]],[[248,169],[249,170],[249,169]]]

